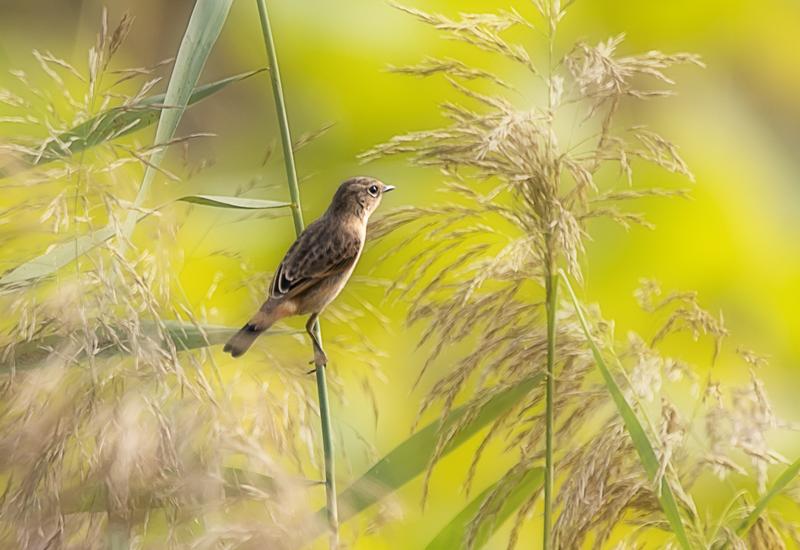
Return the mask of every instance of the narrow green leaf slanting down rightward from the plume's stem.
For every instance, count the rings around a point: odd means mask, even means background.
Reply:
[[[563,270],[561,271],[561,278],[564,281],[567,290],[569,291],[572,304],[575,307],[575,313],[578,315],[581,327],[583,328],[583,333],[586,336],[586,341],[589,343],[589,347],[592,350],[594,361],[597,364],[597,368],[600,370],[600,374],[603,376],[608,393],[611,394],[611,398],[614,400],[617,410],[622,417],[622,421],[625,423],[625,427],[631,436],[631,441],[633,441],[633,444],[636,447],[636,452],[639,454],[639,460],[641,461],[647,476],[651,480],[655,480],[655,477],[658,474],[659,464],[656,452],[653,450],[653,445],[650,443],[647,433],[644,431],[642,424],[636,417],[636,413],[633,411],[633,408],[631,408],[630,404],[628,404],[628,401],[622,394],[622,390],[620,389],[619,385],[617,385],[616,380],[614,380],[614,376],[608,369],[605,359],[603,359],[603,355],[600,353],[600,349],[597,347],[597,344],[595,344],[594,338],[592,338],[592,333],[589,330],[589,323],[587,322],[580,303],[578,302],[578,297],[575,295],[575,291],[572,289],[572,285],[570,285],[569,279]],[[681,545],[681,548],[684,550],[690,550],[691,545],[689,544],[689,539],[686,536],[686,529],[683,525],[683,519],[681,518],[680,511],[678,510],[678,504],[675,501],[675,495],[672,493],[672,488],[670,487],[666,477],[661,480],[661,491],[658,499],[661,502],[661,508],[664,511],[664,515],[667,517],[667,521],[669,521],[672,532],[674,533],[675,538],[678,539],[678,543]]]

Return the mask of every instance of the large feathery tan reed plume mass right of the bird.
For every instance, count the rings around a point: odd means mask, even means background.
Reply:
[[[712,471],[748,471],[739,470],[744,467],[730,445],[753,445],[749,456],[762,481],[765,466],[779,460],[762,439],[768,426],[778,424],[767,412],[755,371],[748,388],[723,390],[713,379],[711,366],[720,360],[727,337],[721,316],[703,309],[695,293],[660,297],[652,281],[636,297],[654,315],[668,316],[650,338],[631,334],[619,340],[613,322],[592,309],[593,339],[616,370],[616,380],[604,385],[575,312],[556,296],[560,267],[583,280],[590,220],[649,227],[643,215],[626,207],[630,201],[686,195],[680,189],[635,185],[635,168],[643,162],[690,180],[693,176],[676,145],[642,124],[622,121],[628,103],[671,95],[669,72],[675,65],[702,62],[688,53],[621,53],[624,35],[558,48],[556,32],[571,4],[535,0],[531,16],[506,10],[458,18],[395,4],[446,38],[515,67],[500,74],[432,57],[419,65],[392,67],[407,75],[442,77],[458,99],[441,104],[446,125],[392,137],[362,155],[366,161],[401,155],[414,165],[438,169],[443,182],[444,202],[398,209],[374,228],[379,235],[401,234],[402,245],[416,242],[423,250],[406,263],[396,290],[410,304],[408,323],[423,324],[421,345],[429,353],[420,377],[445,352],[451,366],[433,384],[420,414],[441,403],[444,419],[463,401],[475,415],[492,395],[522,380],[545,374],[550,382],[533,388],[498,418],[479,445],[465,479],[468,491],[492,442],[501,441],[517,462],[483,499],[464,538],[467,548],[519,485],[521,473],[540,466],[543,487],[520,506],[509,548],[540,497],[545,548],[578,548],[587,542],[599,548],[612,532],[625,532],[617,530],[622,524],[636,526],[626,539],[635,545],[641,533],[673,531],[674,522],[681,533],[673,533],[671,544],[717,547],[738,540],[737,535],[721,527],[723,519],[705,523],[691,495],[696,480]],[[528,49],[506,38],[510,35],[524,36],[525,44],[535,46]],[[695,339],[710,336],[709,365],[660,354],[658,346],[679,332]],[[639,439],[626,432],[610,407],[608,383],[621,387],[633,403],[639,419],[632,421],[644,426]],[[694,392],[688,410],[673,393],[687,384]],[[715,402],[710,397],[715,392],[742,397],[723,403],[720,396]],[[750,407],[750,421],[730,417]],[[440,432],[424,495],[440,451],[468,422]],[[734,435],[732,427],[716,433],[728,423],[748,435]],[[703,426],[706,433],[698,435]],[[702,444],[690,445],[691,438]],[[645,475],[637,454],[641,445],[655,453],[653,476]],[[662,483],[671,487],[677,503],[669,523],[660,502]],[[740,512],[746,508],[738,500],[731,506]]]

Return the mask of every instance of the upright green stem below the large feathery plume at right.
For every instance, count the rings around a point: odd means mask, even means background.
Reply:
[[[545,386],[545,454],[544,454],[544,527],[542,529],[542,548],[552,547],[553,531],[553,418],[555,415],[555,354],[556,354],[556,297],[558,295],[558,276],[548,269],[545,278],[547,307],[547,385]]]

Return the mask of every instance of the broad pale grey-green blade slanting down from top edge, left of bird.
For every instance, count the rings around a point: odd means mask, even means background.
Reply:
[[[200,79],[200,72],[208,60],[208,55],[222,31],[232,2],[233,0],[197,0],[195,3],[183,40],[178,48],[167,92],[164,94],[164,104],[168,108],[162,109],[158,117],[156,145],[169,142],[175,135],[178,122],[186,110],[192,90]],[[165,153],[166,150],[161,147],[150,156],[139,192],[133,202],[134,208],[141,206],[147,197],[150,185]],[[131,211],[123,227],[126,237],[130,237],[133,233],[136,221],[136,212]]]

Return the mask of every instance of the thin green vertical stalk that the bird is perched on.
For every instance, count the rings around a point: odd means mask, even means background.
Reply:
[[[275,98],[275,110],[278,116],[278,126],[281,132],[281,145],[283,147],[283,161],[286,166],[286,180],[289,186],[289,196],[292,203],[292,219],[295,233],[299,236],[303,231],[303,211],[300,203],[300,189],[297,184],[297,169],[292,151],[292,137],[289,132],[289,120],[286,116],[286,102],[283,99],[283,86],[278,68],[278,57],[275,53],[275,42],[272,39],[272,28],[269,24],[267,4],[265,0],[256,0],[258,14],[261,20],[261,31],[264,34],[264,45],[267,49],[269,60],[270,78],[272,81],[272,94]],[[314,323],[312,330],[317,336],[317,341],[322,342],[319,322]],[[331,428],[330,405],[328,402],[328,382],[326,379],[326,365],[315,365],[317,378],[317,395],[319,399],[319,417],[322,429],[322,451],[325,458],[325,497],[327,504],[327,519],[330,529],[330,546],[339,545],[339,510],[336,502],[336,479],[333,447],[333,429]]]

